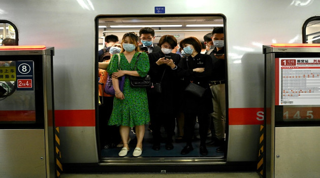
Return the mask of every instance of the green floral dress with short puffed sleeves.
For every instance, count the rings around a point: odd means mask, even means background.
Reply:
[[[137,70],[138,74],[144,77],[150,68],[149,58],[145,52],[142,52],[137,67],[134,69],[138,54],[138,52],[135,53],[131,63],[129,63],[124,54],[120,53],[120,69],[128,71]],[[109,75],[112,75],[113,72],[117,72],[117,69],[118,55],[113,55],[107,71]],[[114,97],[112,114],[108,125],[134,127],[148,124],[150,116],[146,88],[131,87],[129,76],[125,75],[122,93],[124,95],[123,100]]]

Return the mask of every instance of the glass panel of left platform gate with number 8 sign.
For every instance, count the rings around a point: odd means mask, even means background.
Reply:
[[[0,123],[35,123],[33,61],[0,61]]]

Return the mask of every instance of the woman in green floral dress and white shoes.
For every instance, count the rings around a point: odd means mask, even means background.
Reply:
[[[120,126],[120,135],[123,141],[123,148],[119,152],[120,157],[126,156],[129,151],[130,127],[136,128],[137,146],[133,156],[142,154],[142,140],[144,137],[144,125],[149,123],[148,100],[146,88],[131,87],[129,76],[144,77],[149,71],[149,59],[145,52],[139,56],[138,37],[135,33],[126,33],[122,37],[122,49],[119,55],[113,55],[107,68],[109,75],[112,75],[112,83],[115,90],[113,110],[109,125]],[[118,60],[120,56],[120,69]],[[136,61],[137,67],[135,68]],[[125,75],[123,92],[119,90],[118,77]]]

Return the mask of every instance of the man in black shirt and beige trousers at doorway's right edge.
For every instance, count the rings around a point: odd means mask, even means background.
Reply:
[[[215,137],[206,143],[207,146],[219,146],[216,152],[225,151],[225,121],[226,121],[226,62],[225,62],[225,35],[223,27],[215,27],[212,31],[212,42],[215,46],[207,54],[212,58],[212,76],[210,90],[212,92],[213,113],[211,118],[214,124]]]

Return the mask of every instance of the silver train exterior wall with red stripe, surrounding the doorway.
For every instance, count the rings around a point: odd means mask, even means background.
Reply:
[[[95,18],[100,15],[220,14],[228,65],[227,161],[257,160],[264,107],[262,45],[302,43],[306,19],[320,2],[285,1],[17,1],[4,0],[0,19],[16,25],[19,45],[54,46],[55,124],[63,163],[99,162],[95,129]],[[159,15],[161,16],[161,14]]]

